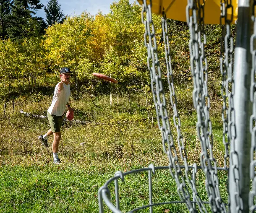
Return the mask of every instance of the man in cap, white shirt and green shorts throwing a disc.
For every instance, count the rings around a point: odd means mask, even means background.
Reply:
[[[58,157],[58,148],[60,143],[60,127],[63,121],[63,114],[65,112],[65,107],[68,107],[69,111],[73,111],[73,109],[68,104],[68,100],[70,97],[70,80],[71,71],[69,68],[62,68],[60,70],[60,79],[61,81],[57,83],[54,90],[54,95],[52,98],[52,104],[47,110],[47,117],[50,122],[50,130],[48,130],[44,135],[38,136],[40,142],[48,147],[47,140],[50,135],[53,134],[53,143],[52,143],[52,154],[53,154],[53,163],[60,164],[61,161]]]

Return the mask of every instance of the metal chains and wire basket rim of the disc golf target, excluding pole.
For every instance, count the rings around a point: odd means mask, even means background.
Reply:
[[[149,3],[147,3],[149,2]],[[144,33],[144,44],[147,48],[147,66],[150,72],[151,77],[151,89],[153,94],[154,105],[156,108],[157,114],[157,123],[162,135],[162,146],[164,152],[167,154],[169,159],[169,170],[172,177],[175,179],[177,184],[177,192],[180,197],[178,203],[185,203],[189,212],[207,212],[205,204],[209,203],[212,212],[221,212],[226,213],[226,204],[223,202],[222,197],[219,192],[219,181],[217,176],[217,171],[224,170],[227,171],[229,167],[229,159],[236,158],[237,153],[235,151],[230,152],[230,143],[234,143],[236,139],[235,131],[235,110],[234,110],[234,80],[233,80],[233,37],[231,33],[230,24],[233,19],[233,8],[231,0],[220,0],[221,11],[220,11],[220,24],[222,27],[222,41],[221,41],[221,53],[220,53],[220,71],[222,74],[222,121],[223,121],[223,134],[222,142],[225,146],[225,156],[224,156],[224,168],[217,167],[217,162],[213,156],[213,135],[212,135],[212,122],[209,117],[209,108],[210,108],[210,97],[208,93],[208,65],[207,59],[204,51],[206,45],[206,34],[204,30],[204,3],[205,0],[188,0],[188,5],[186,7],[186,17],[187,23],[190,31],[190,41],[189,41],[189,50],[190,50],[190,62],[191,62],[191,73],[193,76],[193,105],[197,112],[197,123],[196,130],[197,136],[201,144],[201,155],[200,163],[202,170],[205,174],[205,188],[208,195],[208,200],[201,200],[200,195],[196,189],[195,175],[197,171],[197,165],[188,166],[187,153],[185,151],[184,139],[181,132],[181,121],[177,109],[177,98],[175,95],[174,81],[172,75],[172,66],[171,66],[171,54],[167,30],[167,21],[165,13],[163,12],[162,18],[162,32],[163,39],[165,44],[165,59],[166,59],[166,68],[167,68],[167,81],[170,89],[170,104],[173,109],[173,122],[177,131],[177,145],[174,143],[170,121],[166,108],[166,99],[165,93],[162,85],[162,73],[158,60],[157,54],[157,40],[155,36],[154,24],[152,21],[152,11],[151,11],[151,0],[143,0],[141,18],[142,23],[145,26]],[[254,0],[254,6],[256,5],[256,0]],[[230,18],[227,17],[227,10],[232,10]],[[145,16],[146,13],[146,16]],[[223,26],[223,19],[225,20],[225,26]],[[255,21],[253,19],[253,21]],[[255,22],[254,22],[255,23]],[[256,73],[256,50],[253,49],[252,40],[256,38],[256,23],[254,29],[254,37],[251,38],[251,52],[254,53],[253,58],[253,68],[254,75],[251,86],[251,101],[253,103],[253,116],[251,117],[251,134],[252,143],[251,148],[251,158],[254,158],[256,151],[256,101],[253,99],[253,94],[256,83],[255,73]],[[254,125],[254,127],[253,127]],[[179,148],[179,153],[177,153],[176,147]],[[178,155],[180,155],[178,157]],[[182,161],[184,166],[182,165]],[[254,168],[256,161],[251,163],[251,179],[253,179],[253,191],[250,192],[250,208],[251,210],[256,209],[253,201],[256,197],[256,177],[254,174]],[[151,172],[154,173],[156,169],[153,165],[150,165],[149,168],[144,168],[149,171],[149,205],[144,206],[138,209],[149,208],[149,211],[152,213],[153,205],[152,202],[152,182],[151,182]],[[138,171],[143,171],[144,169],[139,169]],[[184,169],[184,170],[183,170]],[[243,209],[243,203],[241,202],[240,189],[239,189],[239,165],[233,164],[233,167],[230,169],[231,174],[235,180],[235,205],[236,212],[241,212]],[[192,172],[191,172],[192,171]],[[118,199],[118,181],[117,178],[121,178],[124,181],[124,176],[128,173],[133,173],[135,171],[122,173],[118,171],[115,174],[115,178],[110,179],[104,187],[101,187],[99,190],[99,207],[100,212],[103,212],[102,198],[108,205],[108,207],[114,212],[120,213],[119,199]],[[191,174],[192,173],[192,174]],[[192,177],[192,179],[191,179]],[[116,196],[116,207],[110,203],[110,190],[107,185],[115,180],[115,196]],[[188,184],[189,183],[189,184]],[[193,200],[191,199],[191,192],[193,194]],[[168,202],[166,202],[168,203]],[[172,203],[169,202],[169,203]],[[132,210],[131,212],[133,212]]]

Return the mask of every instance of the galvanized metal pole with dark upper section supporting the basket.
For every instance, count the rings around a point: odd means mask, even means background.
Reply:
[[[249,120],[252,112],[250,101],[251,77],[251,0],[238,1],[234,59],[234,111],[229,125],[230,169],[229,169],[229,212],[249,212],[250,191],[250,148]],[[234,8],[235,9],[235,8]],[[230,106],[229,106],[230,107]]]

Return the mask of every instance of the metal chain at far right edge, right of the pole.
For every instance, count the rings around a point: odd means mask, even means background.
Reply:
[[[252,179],[252,190],[249,192],[249,208],[252,212],[256,211],[256,48],[254,47],[256,43],[256,16],[254,13],[256,6],[256,0],[253,0],[252,16],[253,21],[253,34],[250,40],[250,49],[252,55],[252,70],[251,70],[251,92],[250,99],[253,103],[253,113],[250,117],[250,132],[251,132],[251,164],[250,164],[250,178]]]

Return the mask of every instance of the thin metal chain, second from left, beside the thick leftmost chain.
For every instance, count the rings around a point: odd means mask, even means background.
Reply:
[[[169,85],[170,90],[170,103],[174,112],[173,115],[173,122],[174,126],[177,130],[177,141],[178,146],[180,150],[180,157],[184,162],[185,165],[185,177],[187,179],[187,182],[190,184],[191,189],[193,190],[193,194],[195,195],[196,203],[199,207],[200,212],[207,212],[204,204],[202,203],[202,200],[196,190],[195,182],[191,181],[189,177],[192,177],[191,171],[188,169],[188,163],[187,163],[187,153],[184,146],[184,140],[183,135],[180,130],[181,122],[180,122],[180,115],[178,113],[177,109],[177,98],[175,94],[175,88],[174,88],[174,82],[173,82],[173,75],[172,75],[172,63],[171,63],[171,54],[170,54],[170,45],[169,45],[169,36],[168,36],[168,29],[167,29],[167,22],[166,22],[166,15],[163,13],[162,17],[162,32],[163,32],[163,39],[165,43],[165,60],[166,60],[166,68],[167,68],[167,81]]]

